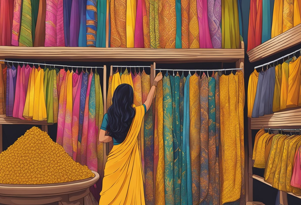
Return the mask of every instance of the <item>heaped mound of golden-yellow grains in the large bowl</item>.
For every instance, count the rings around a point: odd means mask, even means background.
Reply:
[[[94,177],[46,132],[33,127],[0,154],[1,184],[51,184]]]

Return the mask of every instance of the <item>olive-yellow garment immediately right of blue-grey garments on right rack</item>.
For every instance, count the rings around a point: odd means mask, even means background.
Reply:
[[[280,110],[280,92],[281,92],[282,70],[281,64],[275,67],[275,89],[273,97],[273,112]]]

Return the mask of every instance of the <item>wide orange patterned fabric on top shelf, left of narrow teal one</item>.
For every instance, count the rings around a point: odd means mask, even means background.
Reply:
[[[175,48],[176,13],[175,1],[159,0],[159,43],[160,48]]]

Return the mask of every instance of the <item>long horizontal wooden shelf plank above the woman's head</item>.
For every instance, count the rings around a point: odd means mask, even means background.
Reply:
[[[236,62],[244,49],[144,49],[92,47],[19,47],[0,46],[0,58],[34,58],[49,61],[156,61]]]

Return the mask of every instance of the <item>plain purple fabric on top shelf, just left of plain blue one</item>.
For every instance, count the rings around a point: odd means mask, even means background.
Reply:
[[[70,16],[70,46],[78,47],[79,37],[79,0],[73,0]]]

